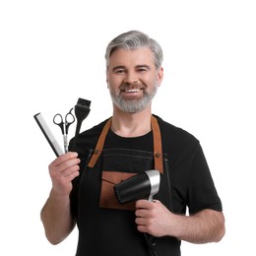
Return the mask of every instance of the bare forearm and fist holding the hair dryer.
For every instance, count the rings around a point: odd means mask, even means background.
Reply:
[[[136,224],[141,232],[154,236],[175,236],[192,243],[218,242],[224,236],[224,214],[206,209],[193,216],[175,215],[160,201],[136,202]]]

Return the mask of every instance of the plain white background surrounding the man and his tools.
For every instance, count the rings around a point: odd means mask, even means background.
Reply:
[[[78,97],[92,100],[82,130],[109,117],[105,46],[135,29],[164,52],[153,112],[201,141],[223,200],[224,239],[184,242],[182,255],[255,255],[255,13],[253,0],[2,0],[0,254],[75,255],[77,230],[56,246],[43,233],[55,156],[33,115],[43,114],[59,143],[52,117]]]

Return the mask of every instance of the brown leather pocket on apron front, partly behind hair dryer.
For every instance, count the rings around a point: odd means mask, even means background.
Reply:
[[[135,174],[137,173],[103,170],[101,174],[99,207],[135,211],[135,202],[130,202],[123,205],[118,203],[113,188],[115,184],[118,184]]]

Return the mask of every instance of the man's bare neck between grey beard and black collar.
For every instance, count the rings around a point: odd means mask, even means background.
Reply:
[[[111,130],[121,137],[138,137],[151,131],[151,107],[138,113],[114,109]]]

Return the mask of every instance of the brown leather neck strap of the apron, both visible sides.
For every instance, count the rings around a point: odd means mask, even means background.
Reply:
[[[106,134],[111,126],[111,119],[108,119],[108,121],[105,123],[101,134],[99,135],[99,138],[96,143],[96,150],[94,152],[93,157],[88,163],[88,166],[93,168],[96,164],[96,160],[100,156]],[[160,137],[160,126],[158,123],[158,120],[156,117],[152,116],[151,118],[151,124],[152,124],[152,131],[153,131],[153,142],[154,142],[154,160],[155,160],[155,169],[159,170],[160,173],[163,173],[163,166],[162,166],[162,152],[161,152],[161,137]]]

